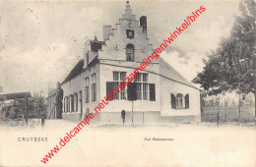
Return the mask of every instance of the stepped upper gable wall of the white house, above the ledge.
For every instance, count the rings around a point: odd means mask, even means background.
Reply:
[[[112,29],[109,39],[105,40],[101,51],[98,51],[98,59],[125,61],[126,45],[128,43],[134,45],[135,62],[141,62],[143,58],[152,54],[153,45],[150,44],[150,39],[147,38],[147,32],[143,32],[143,28],[140,27],[139,21],[135,18],[135,15],[131,15],[131,11],[127,9],[126,14],[123,15],[123,19],[119,19],[119,24],[116,24],[116,28]],[[126,29],[134,30],[134,38],[127,37]],[[116,49],[116,45],[118,45],[118,49]],[[143,51],[144,48],[146,49],[145,51]],[[155,62],[158,62],[158,60]]]

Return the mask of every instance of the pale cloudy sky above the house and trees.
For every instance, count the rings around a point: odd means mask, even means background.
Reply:
[[[125,1],[0,1],[0,86],[4,92],[40,91],[62,82],[83,57],[87,39],[102,40],[102,27],[114,26]],[[157,48],[192,12],[204,12],[161,57],[192,81],[206,53],[228,37],[238,1],[130,1],[139,20],[148,18],[148,37]]]

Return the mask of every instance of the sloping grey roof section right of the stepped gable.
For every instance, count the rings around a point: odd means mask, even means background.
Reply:
[[[167,78],[173,82],[183,83],[200,90],[200,88],[196,87],[193,83],[187,81],[175,69],[173,69],[168,63],[166,63],[162,58],[160,58],[160,76]]]

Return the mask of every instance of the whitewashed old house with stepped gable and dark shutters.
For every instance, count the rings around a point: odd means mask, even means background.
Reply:
[[[84,58],[61,84],[63,119],[78,121],[95,112],[109,85],[115,88],[154,51],[147,35],[147,17],[139,21],[127,1],[125,13],[114,28],[103,26],[103,41],[88,40]],[[109,84],[111,83],[111,84]],[[186,81],[161,58],[153,61],[134,80],[138,100],[127,100],[127,88],[114,97],[94,119],[102,124],[135,124],[200,120],[200,90]],[[110,87],[111,88],[111,87]]]

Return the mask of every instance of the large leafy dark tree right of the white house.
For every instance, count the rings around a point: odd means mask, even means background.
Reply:
[[[193,83],[200,83],[210,95],[232,90],[239,94],[252,92],[256,101],[255,2],[241,1],[239,11],[230,36],[208,54],[203,72],[197,75]]]

